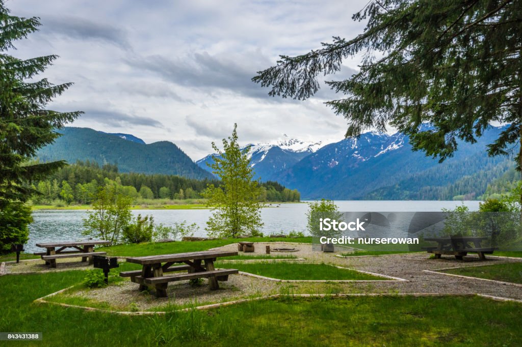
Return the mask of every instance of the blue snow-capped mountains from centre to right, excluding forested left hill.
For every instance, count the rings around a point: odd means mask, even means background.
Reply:
[[[477,199],[488,182],[513,166],[512,159],[489,157],[486,145],[503,127],[485,131],[477,143],[461,142],[442,164],[412,151],[401,133],[370,131],[322,145],[298,140],[249,145],[251,165],[261,180],[278,181],[298,189],[303,199],[336,200],[450,200],[465,195]],[[197,164],[208,169],[208,155]]]

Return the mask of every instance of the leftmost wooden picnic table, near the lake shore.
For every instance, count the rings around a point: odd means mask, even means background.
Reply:
[[[81,257],[82,262],[89,260],[92,265],[93,255],[105,255],[107,252],[94,252],[94,245],[111,244],[111,241],[104,240],[84,240],[84,241],[57,241],[49,243],[37,243],[37,247],[45,248],[45,252],[34,252],[41,255],[45,265],[56,267],[56,259]],[[58,249],[56,249],[58,247]],[[73,250],[66,250],[66,249]]]

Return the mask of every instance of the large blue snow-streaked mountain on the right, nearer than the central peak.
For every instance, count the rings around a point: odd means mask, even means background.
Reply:
[[[402,133],[389,135],[370,131],[359,138],[328,144],[291,168],[278,172],[273,179],[290,189],[298,189],[304,199],[375,200],[388,196],[412,199],[410,196],[414,196],[422,200],[425,199],[420,195],[422,187],[442,189],[506,160],[500,156],[490,158],[486,151],[486,145],[502,130],[502,127],[489,129],[476,144],[459,141],[454,157],[443,164],[436,158],[426,157],[422,151],[412,151],[408,137]],[[395,192],[399,186],[407,189]],[[457,194],[462,193],[454,195]]]

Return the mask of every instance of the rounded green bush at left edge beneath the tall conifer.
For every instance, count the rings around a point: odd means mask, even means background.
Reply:
[[[0,254],[9,253],[11,244],[25,244],[32,222],[31,207],[10,203],[0,209]]]

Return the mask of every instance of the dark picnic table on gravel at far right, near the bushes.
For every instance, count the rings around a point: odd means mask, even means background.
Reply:
[[[440,258],[442,254],[454,255],[455,258],[462,260],[468,253],[477,253],[481,260],[485,260],[485,254],[492,254],[497,247],[482,247],[481,243],[488,240],[488,237],[481,236],[446,236],[442,238],[424,238],[424,241],[437,242],[436,246],[422,247],[428,253],[435,254],[435,258]]]

